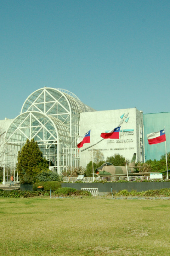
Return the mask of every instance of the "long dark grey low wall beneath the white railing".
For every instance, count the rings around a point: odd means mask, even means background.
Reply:
[[[72,187],[77,190],[81,188],[98,188],[98,192],[107,193],[112,191],[120,190],[136,190],[146,191],[146,190],[156,190],[161,188],[170,188],[170,182],[106,182],[106,183],[61,183],[62,187]]]

